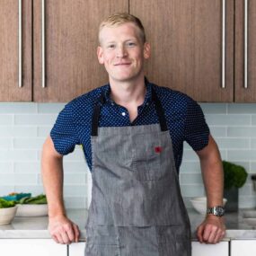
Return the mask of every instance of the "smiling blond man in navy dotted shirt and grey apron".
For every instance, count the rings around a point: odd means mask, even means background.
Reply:
[[[199,155],[207,191],[199,241],[218,243],[225,235],[223,170],[199,105],[146,80],[150,45],[137,17],[111,15],[99,40],[97,56],[110,84],[66,104],[43,146],[50,234],[57,243],[78,240],[63,205],[62,158],[81,144],[93,177],[86,255],[190,255],[190,221],[178,179],[187,141]]]

